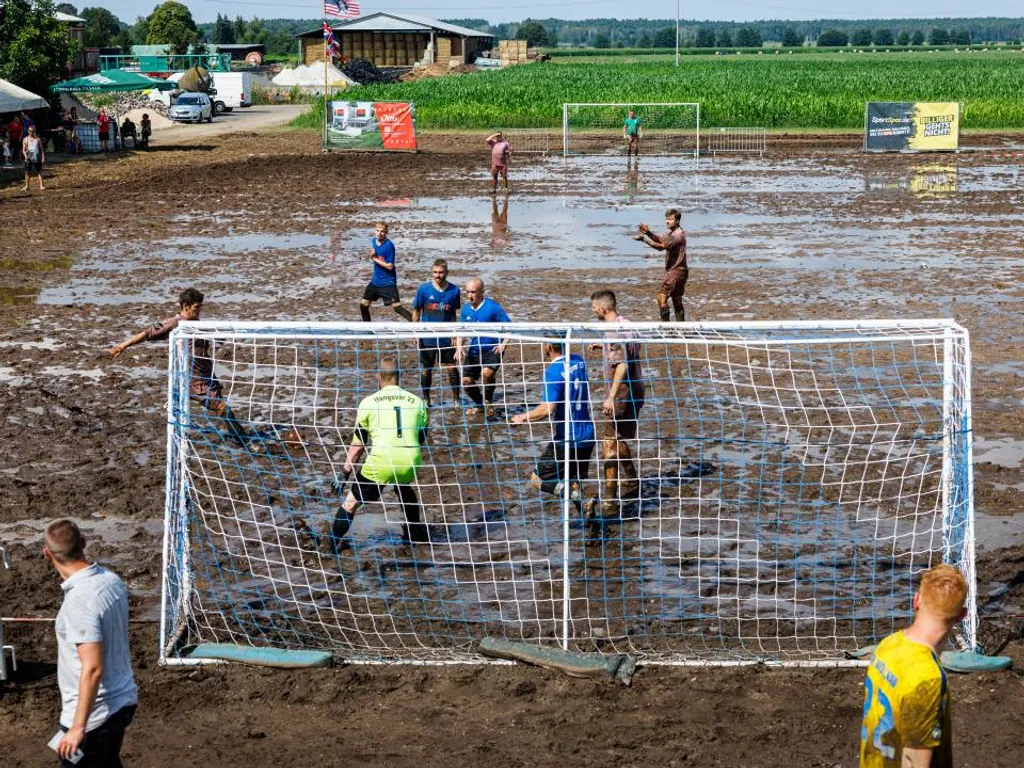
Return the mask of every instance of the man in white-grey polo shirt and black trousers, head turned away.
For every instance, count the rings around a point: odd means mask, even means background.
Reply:
[[[121,742],[135,716],[128,649],[128,588],[85,559],[85,537],[72,520],[51,522],[43,554],[63,580],[57,612],[61,765],[81,750],[77,768],[120,768]]]

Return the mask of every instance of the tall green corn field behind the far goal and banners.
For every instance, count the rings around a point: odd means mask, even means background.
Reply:
[[[672,63],[529,65],[350,89],[415,101],[421,128],[557,128],[566,101],[698,101],[703,125],[850,128],[866,101],[962,101],[965,128],[1024,128],[1024,54],[686,57]],[[310,115],[302,124],[315,125]]]

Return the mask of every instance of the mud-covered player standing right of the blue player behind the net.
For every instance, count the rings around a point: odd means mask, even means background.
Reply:
[[[644,403],[640,344],[628,330],[629,321],[618,313],[612,291],[595,291],[590,297],[594,316],[609,325],[607,336],[614,341],[594,344],[601,352],[604,368],[604,401],[601,403],[601,467],[603,493],[601,516],[615,516],[622,500],[640,490],[637,467],[630,443],[636,440],[640,409]],[[591,505],[593,506],[593,505]],[[588,509],[591,517],[596,510]]]

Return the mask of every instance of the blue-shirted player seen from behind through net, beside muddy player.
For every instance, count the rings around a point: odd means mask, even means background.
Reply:
[[[532,411],[513,416],[512,423],[550,420],[553,439],[541,452],[537,469],[529,478],[530,483],[534,487],[560,496],[564,483],[568,482],[569,499],[577,509],[582,509],[583,482],[590,476],[590,458],[594,454],[587,362],[579,354],[570,354],[566,359],[564,345],[552,342],[545,342],[544,358],[549,364],[544,372],[544,402]],[[566,447],[567,474],[563,472]]]

